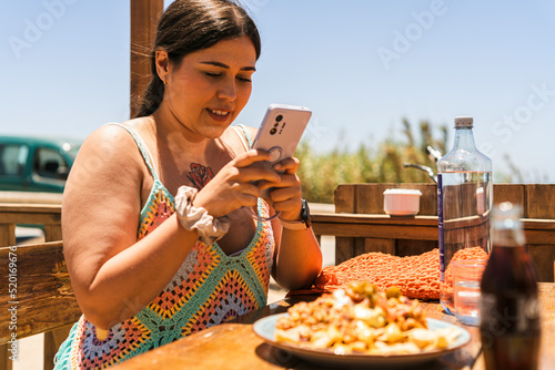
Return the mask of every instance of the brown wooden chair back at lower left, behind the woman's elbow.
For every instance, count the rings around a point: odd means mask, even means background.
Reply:
[[[11,263],[11,265],[10,265]],[[12,369],[10,340],[44,333],[44,366],[81,311],[71,288],[61,241],[0,247],[0,368]],[[10,311],[7,308],[13,308]],[[12,315],[13,314],[13,315]]]

